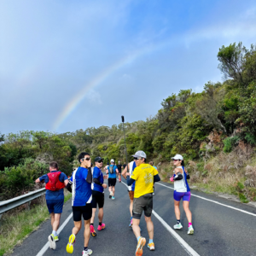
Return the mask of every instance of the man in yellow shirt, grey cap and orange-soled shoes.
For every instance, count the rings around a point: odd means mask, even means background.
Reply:
[[[160,177],[154,167],[145,163],[147,155],[143,151],[137,151],[133,157],[137,167],[134,169],[132,176],[131,173],[127,172],[126,178],[128,186],[131,186],[131,184],[136,181],[132,208],[132,230],[134,235],[137,237],[137,248],[135,254],[137,256],[141,256],[143,255],[143,246],[146,243],[146,239],[141,236],[139,227],[143,212],[145,215],[149,236],[148,248],[150,251],[154,251],[154,224],[151,220],[151,213],[153,209],[152,194],[153,185],[155,182],[160,181]]]

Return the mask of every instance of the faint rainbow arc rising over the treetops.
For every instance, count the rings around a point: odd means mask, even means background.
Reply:
[[[160,46],[160,45],[158,45]],[[55,119],[55,123],[53,125],[53,130],[56,131],[61,126],[61,124],[67,119],[70,113],[74,111],[74,109],[79,105],[80,102],[84,99],[84,96],[93,88],[96,87],[96,85],[101,84],[103,81],[108,79],[108,77],[119,70],[119,68],[124,67],[125,65],[131,63],[134,61],[138,56],[146,54],[148,52],[151,52],[153,46],[146,47],[141,50],[137,50],[136,52],[132,53],[131,55],[126,55],[125,58],[122,58],[121,60],[115,62],[111,67],[108,67],[106,70],[104,70],[102,73],[100,73],[98,76],[96,76],[95,79],[92,79],[89,84],[86,84],[82,90],[79,91],[79,93],[73,97],[73,99],[67,103],[65,108],[63,108],[60,115]],[[157,47],[158,48],[158,47]],[[155,47],[154,47],[155,49]]]

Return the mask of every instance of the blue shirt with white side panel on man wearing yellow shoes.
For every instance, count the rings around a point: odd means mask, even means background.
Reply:
[[[73,172],[70,180],[72,185],[72,206],[84,207],[86,203],[91,202],[91,184],[86,181],[88,169],[79,167]]]

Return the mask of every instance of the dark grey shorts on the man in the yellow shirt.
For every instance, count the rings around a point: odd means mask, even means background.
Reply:
[[[151,217],[153,209],[153,195],[152,193],[142,195],[139,198],[133,199],[132,218],[140,219],[143,211],[146,217]]]

